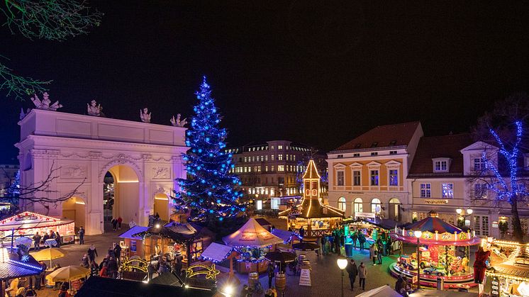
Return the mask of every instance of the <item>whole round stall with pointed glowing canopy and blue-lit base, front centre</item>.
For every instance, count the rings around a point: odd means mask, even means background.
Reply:
[[[233,247],[233,250],[240,254],[237,270],[241,274],[266,271],[268,263],[265,262],[265,255],[273,250],[274,245],[284,242],[263,228],[254,218],[250,218],[239,230],[223,237],[222,240],[225,245]]]

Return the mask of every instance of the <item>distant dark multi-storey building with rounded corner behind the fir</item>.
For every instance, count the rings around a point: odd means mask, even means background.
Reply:
[[[300,181],[311,155],[326,175],[326,163],[321,160],[325,155],[312,154],[312,151],[308,145],[289,140],[226,149],[233,154],[235,167],[231,172],[238,174],[245,194],[260,198],[301,195]],[[326,192],[326,186],[322,190]]]

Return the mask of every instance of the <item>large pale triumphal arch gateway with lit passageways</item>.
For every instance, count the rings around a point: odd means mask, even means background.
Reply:
[[[67,201],[24,201],[26,211],[70,218],[87,235],[100,234],[104,179],[111,174],[113,217],[138,225],[147,225],[155,213],[169,218],[169,194],[178,189],[175,179],[186,177],[186,128],[40,109],[30,111],[18,125],[21,186],[38,185],[52,172],[48,191],[35,195],[60,198],[78,187]]]

